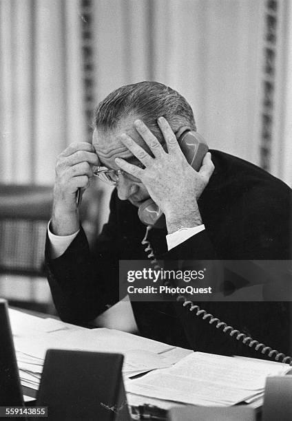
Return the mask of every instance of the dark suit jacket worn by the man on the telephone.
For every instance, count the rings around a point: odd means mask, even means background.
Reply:
[[[291,259],[291,190],[262,169],[212,151],[215,171],[198,206],[206,229],[167,252],[165,230],[149,238],[163,259]],[[179,182],[179,180],[178,180]],[[46,267],[56,309],[71,323],[91,321],[118,301],[119,259],[147,259],[137,209],[112,194],[110,218],[90,252],[81,229],[65,253]],[[289,303],[199,303],[221,321],[289,353]],[[262,355],[189,312],[182,303],[132,302],[140,334],[216,354]]]

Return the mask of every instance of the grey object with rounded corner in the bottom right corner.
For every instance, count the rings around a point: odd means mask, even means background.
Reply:
[[[262,421],[292,420],[292,375],[268,377]]]

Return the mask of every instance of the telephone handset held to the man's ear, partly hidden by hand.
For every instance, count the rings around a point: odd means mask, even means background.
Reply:
[[[209,148],[204,138],[196,131],[183,127],[180,129],[178,144],[183,151],[187,162],[196,170],[200,169],[202,160]],[[177,135],[178,136],[178,135]],[[152,199],[147,199],[138,208],[138,217],[143,224],[154,228],[165,227],[165,216]]]

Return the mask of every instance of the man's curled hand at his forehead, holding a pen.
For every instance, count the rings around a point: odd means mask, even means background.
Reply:
[[[92,166],[98,166],[98,156],[92,144],[70,144],[56,160],[52,231],[56,235],[70,235],[79,229],[76,192],[89,186]]]

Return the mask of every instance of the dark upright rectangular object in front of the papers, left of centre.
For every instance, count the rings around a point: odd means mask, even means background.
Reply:
[[[130,420],[123,355],[48,349],[36,406],[48,420]]]

